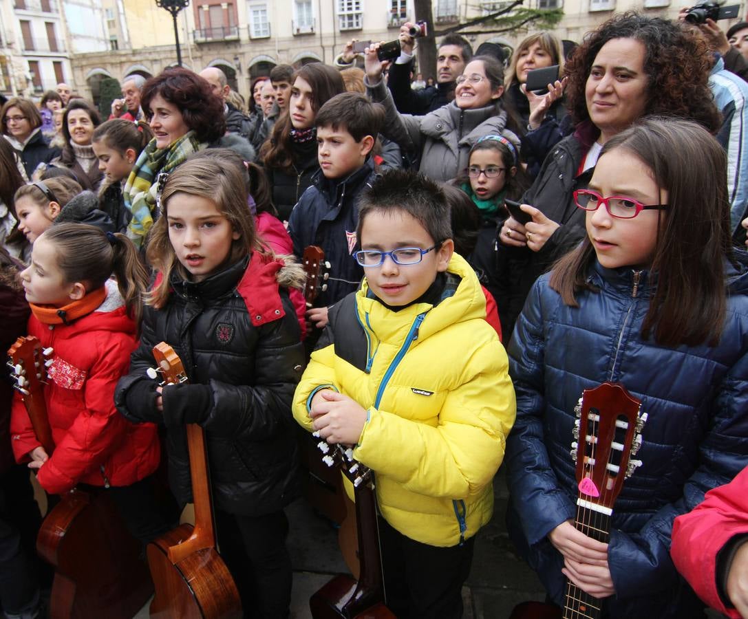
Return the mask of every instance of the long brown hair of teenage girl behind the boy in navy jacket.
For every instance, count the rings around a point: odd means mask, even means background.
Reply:
[[[301,67],[293,74],[292,84],[296,81],[296,78],[307,81],[312,87],[311,104],[314,114],[326,101],[337,94],[346,92],[346,84],[340,77],[340,71],[321,62],[313,62]],[[284,172],[292,170],[295,160],[291,142],[291,129],[293,129],[291,116],[289,111],[286,111],[276,121],[272,136],[260,150],[260,157],[263,158],[266,167],[280,168]]]

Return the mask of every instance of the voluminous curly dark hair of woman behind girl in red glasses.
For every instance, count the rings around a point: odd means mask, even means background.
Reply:
[[[708,87],[712,62],[705,39],[687,25],[633,11],[616,15],[587,34],[569,58],[566,102],[577,123],[589,120],[585,97],[589,71],[602,46],[613,39],[634,39],[644,45],[649,83],[642,116],[687,118],[717,132],[722,117]]]

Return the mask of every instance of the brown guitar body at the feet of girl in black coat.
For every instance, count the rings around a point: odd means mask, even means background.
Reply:
[[[183,524],[148,545],[148,564],[154,582],[159,582],[150,603],[155,619],[235,619],[242,617],[231,574],[215,548],[204,548],[187,555],[176,564],[169,548],[190,538],[193,527]],[[218,592],[218,594],[217,594]],[[228,603],[227,603],[228,600]]]

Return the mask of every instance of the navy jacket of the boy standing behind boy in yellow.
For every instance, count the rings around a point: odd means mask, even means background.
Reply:
[[[358,196],[376,176],[372,158],[343,180],[326,179],[320,170],[291,213],[288,233],[293,253],[301,258],[304,247],[319,245],[330,263],[328,288],[316,298],[316,307],[330,306],[355,292],[364,277],[364,269],[352,256],[359,247]]]

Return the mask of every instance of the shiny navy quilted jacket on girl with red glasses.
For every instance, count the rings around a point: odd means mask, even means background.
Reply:
[[[741,259],[748,262],[745,255]],[[690,618],[699,604],[669,555],[672,522],[748,464],[748,267],[728,266],[726,324],[717,346],[665,348],[640,328],[653,289],[649,274],[598,262],[568,307],[533,286],[509,345],[517,421],[506,442],[512,540],[562,603],[562,558],[546,537],[576,513],[571,460],[574,405],[583,389],[619,382],[649,415],[643,461],[613,508],[608,559],[616,596],[611,618]],[[636,289],[635,289],[636,288]],[[684,303],[688,300],[684,299]]]

